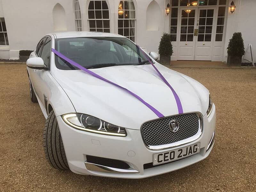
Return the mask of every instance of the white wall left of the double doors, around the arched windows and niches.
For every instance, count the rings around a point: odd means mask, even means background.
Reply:
[[[146,47],[148,51],[157,52],[160,37],[164,32],[164,9],[166,5],[162,0],[155,0],[154,4],[158,4],[158,6],[156,6],[156,11],[159,12],[160,10],[160,15],[157,16],[158,29],[147,31],[146,11],[148,4],[150,4],[151,1],[152,0],[138,0],[135,2],[135,41],[140,44],[140,46]],[[119,2],[119,0],[107,0],[111,33],[117,33],[117,10]],[[64,8],[65,15],[63,15],[62,12],[61,17],[54,15],[55,19],[53,19],[53,8],[57,3],[60,3]],[[80,0],[79,3],[83,19],[83,29],[89,30],[87,20],[89,0]],[[72,0],[0,0],[0,16],[5,18],[10,44],[9,49],[7,49],[6,52],[0,51],[0,58],[18,59],[19,50],[34,50],[40,38],[47,33],[54,32],[54,29],[58,31],[74,31],[75,21],[73,11]],[[154,9],[151,9],[151,11],[154,11]],[[56,21],[55,23],[61,22],[62,27],[57,26],[57,28],[54,28],[54,21]]]

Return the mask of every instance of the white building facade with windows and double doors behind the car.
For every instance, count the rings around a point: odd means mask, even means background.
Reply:
[[[228,41],[242,32],[256,58],[256,1],[234,0],[0,0],[0,58],[18,59],[42,36],[103,31],[127,36],[148,52],[172,35],[172,60],[227,61]],[[167,4],[170,14],[166,14]],[[250,59],[250,54],[245,55]]]

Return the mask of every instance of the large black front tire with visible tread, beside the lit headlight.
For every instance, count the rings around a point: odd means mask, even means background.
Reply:
[[[48,162],[55,169],[68,169],[68,162],[64,151],[59,125],[53,110],[44,125],[44,154]]]

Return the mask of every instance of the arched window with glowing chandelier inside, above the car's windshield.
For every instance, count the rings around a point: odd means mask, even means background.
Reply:
[[[135,6],[133,0],[122,0],[119,3],[118,34],[135,41]]]

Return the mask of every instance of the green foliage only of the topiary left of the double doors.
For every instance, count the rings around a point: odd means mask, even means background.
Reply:
[[[172,51],[172,41],[171,41],[171,35],[164,33],[161,37],[161,41],[158,47],[158,53],[160,56],[171,56]]]

